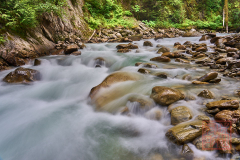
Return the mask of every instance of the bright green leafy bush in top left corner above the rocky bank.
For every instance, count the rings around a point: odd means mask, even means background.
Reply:
[[[62,14],[65,0],[3,0],[0,6],[0,22],[13,31],[34,28],[44,12]]]

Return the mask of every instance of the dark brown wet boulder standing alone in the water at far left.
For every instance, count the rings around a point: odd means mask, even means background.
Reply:
[[[7,83],[29,83],[41,79],[41,74],[37,70],[19,67],[3,78]]]

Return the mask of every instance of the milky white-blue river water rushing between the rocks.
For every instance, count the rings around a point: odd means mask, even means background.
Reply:
[[[23,66],[40,71],[42,80],[30,85],[0,82],[0,157],[3,160],[145,160],[157,152],[164,159],[174,158],[181,152],[181,146],[173,145],[165,137],[172,127],[166,107],[155,105],[152,109],[162,111],[159,121],[138,114],[121,115],[118,111],[127,105],[134,112],[134,104],[127,102],[127,98],[132,95],[148,98],[154,86],[177,88],[186,96],[196,97],[174,104],[190,108],[193,119],[205,108],[203,103],[207,101],[196,96],[203,89],[211,90],[217,98],[233,96],[239,82],[230,78],[220,76],[220,84],[208,86],[194,86],[182,80],[183,75],[199,77],[209,71],[194,63],[181,64],[174,60],[155,63],[158,68],[150,70],[167,73],[167,79],[137,73],[141,66],[136,67],[136,62],[150,62],[150,58],[159,56],[157,44],[173,51],[175,42],[199,43],[199,38],[150,40],[154,47],[143,47],[143,40],[134,42],[140,53],[135,50],[117,53],[118,44],[114,43],[87,44],[80,56],[42,57],[40,66]],[[205,43],[211,45],[209,41]],[[102,68],[95,68],[98,57],[105,59]],[[0,72],[0,79],[12,70]],[[97,112],[89,92],[115,71],[137,74],[141,80],[114,85],[121,97],[115,97],[105,112]],[[200,151],[192,144],[189,146],[196,157],[216,159],[216,151]]]

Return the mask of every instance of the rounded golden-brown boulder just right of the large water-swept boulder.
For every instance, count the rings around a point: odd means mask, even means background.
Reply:
[[[178,100],[184,99],[185,96],[178,90],[163,86],[156,86],[152,89],[152,94],[150,97],[157,104],[167,106]]]

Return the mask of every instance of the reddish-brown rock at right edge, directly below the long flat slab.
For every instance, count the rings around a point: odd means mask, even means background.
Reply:
[[[219,122],[232,122],[232,123],[237,123],[240,118],[240,110],[235,110],[235,111],[229,111],[229,110],[223,110],[218,112],[215,115],[215,119]]]

